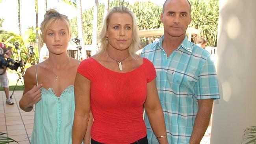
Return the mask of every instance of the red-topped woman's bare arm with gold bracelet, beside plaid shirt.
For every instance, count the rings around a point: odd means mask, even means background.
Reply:
[[[150,125],[156,136],[166,136],[163,109],[156,90],[156,79],[147,84],[147,100],[145,111],[148,114]],[[168,144],[167,137],[158,138],[160,144]]]

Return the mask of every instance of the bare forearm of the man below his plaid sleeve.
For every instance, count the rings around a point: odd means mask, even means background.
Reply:
[[[198,100],[198,112],[190,138],[190,144],[200,144],[209,125],[213,99]]]

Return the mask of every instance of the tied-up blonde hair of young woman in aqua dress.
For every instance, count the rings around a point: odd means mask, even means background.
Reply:
[[[40,39],[41,44],[43,44],[45,42],[45,33],[46,33],[48,26],[50,26],[50,24],[53,21],[55,21],[56,23],[59,23],[59,20],[62,20],[66,24],[66,26],[68,28],[69,35],[71,35],[71,28],[70,28],[70,22],[69,22],[68,17],[66,15],[60,14],[56,9],[49,9],[48,11],[46,11],[45,18],[44,18],[43,22],[41,23],[41,27],[40,27],[41,33],[40,33],[39,39]]]

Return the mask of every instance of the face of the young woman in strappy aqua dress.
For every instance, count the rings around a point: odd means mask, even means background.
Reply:
[[[45,44],[49,53],[63,54],[67,51],[69,41],[69,31],[62,20],[59,20],[59,22],[55,20],[48,26],[45,33]]]

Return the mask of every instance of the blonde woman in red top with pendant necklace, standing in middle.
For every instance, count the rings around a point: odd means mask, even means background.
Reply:
[[[139,48],[132,11],[111,9],[100,33],[100,51],[82,61],[75,79],[72,143],[81,144],[90,111],[91,144],[147,144],[143,105],[160,144],[168,144],[153,64]]]

